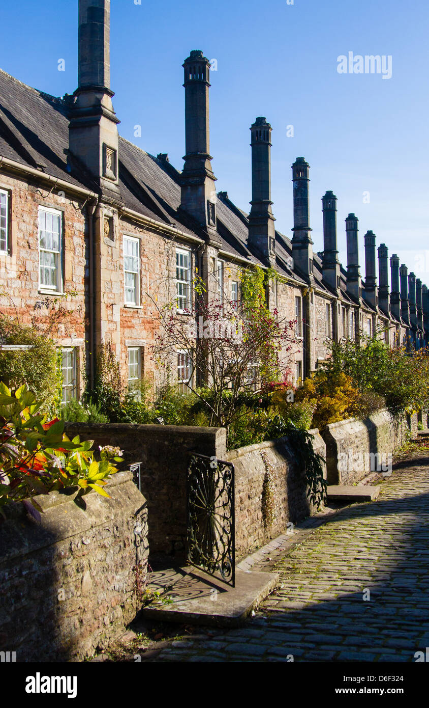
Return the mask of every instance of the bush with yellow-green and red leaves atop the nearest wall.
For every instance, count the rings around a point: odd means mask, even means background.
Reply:
[[[28,512],[40,518],[42,511],[34,496],[66,487],[81,493],[97,491],[109,496],[103,487],[111,474],[112,464],[121,462],[120,450],[100,448],[96,461],[90,448],[93,440],[69,440],[64,434],[64,421],[47,421],[39,413],[40,402],[21,386],[13,395],[0,383],[0,510],[13,501],[22,501]]]

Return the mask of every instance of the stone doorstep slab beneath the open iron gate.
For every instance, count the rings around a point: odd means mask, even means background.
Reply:
[[[278,573],[236,569],[235,588],[192,566],[155,571],[148,589],[159,590],[170,602],[154,601],[142,617],[158,622],[189,622],[237,626],[276,587]]]

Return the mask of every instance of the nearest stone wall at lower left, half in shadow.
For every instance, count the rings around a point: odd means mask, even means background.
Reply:
[[[40,523],[21,504],[0,518],[0,649],[16,661],[81,661],[125,631],[146,576],[146,501],[131,472],[90,492],[38,496]]]

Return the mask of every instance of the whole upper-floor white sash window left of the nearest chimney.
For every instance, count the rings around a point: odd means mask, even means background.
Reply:
[[[39,207],[40,287],[62,291],[62,214]]]

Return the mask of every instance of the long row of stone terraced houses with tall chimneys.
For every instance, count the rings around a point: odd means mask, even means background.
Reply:
[[[213,277],[224,297],[240,297],[237,269],[275,268],[268,298],[297,320],[296,380],[327,356],[327,341],[380,336],[390,346],[427,342],[428,289],[408,274],[375,235],[365,236],[365,280],[358,263],[358,219],[346,219],[348,263],[338,261],[336,197],[322,199],[324,251],[313,253],[309,170],[293,164],[293,237],[274,227],[271,126],[251,131],[249,214],[216,194],[208,130],[210,63],[201,51],[184,60],[182,171],[167,154],[152,156],[119,137],[110,89],[110,0],[79,0],[78,88],[54,98],[0,70],[0,305],[30,321],[52,302],[68,314],[55,333],[63,351],[64,400],[93,381],[94,353],[110,342],[124,380],[153,377],[157,307],[192,301],[192,276]],[[187,377],[187,355],[177,355]]]

